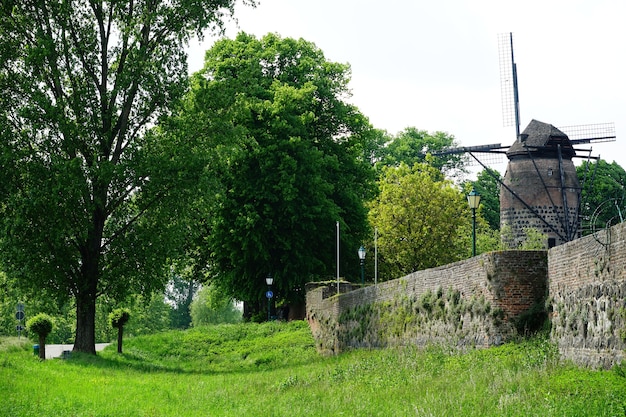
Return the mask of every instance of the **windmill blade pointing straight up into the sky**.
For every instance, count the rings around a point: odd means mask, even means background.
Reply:
[[[518,138],[520,133],[519,94],[512,33],[501,33],[498,35],[498,50],[500,55],[502,122],[504,126],[515,126],[515,137]]]

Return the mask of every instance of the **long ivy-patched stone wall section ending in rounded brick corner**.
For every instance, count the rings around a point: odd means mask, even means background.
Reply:
[[[443,343],[487,347],[544,305],[546,251],[505,251],[414,272],[376,286],[307,288],[307,319],[318,350]]]

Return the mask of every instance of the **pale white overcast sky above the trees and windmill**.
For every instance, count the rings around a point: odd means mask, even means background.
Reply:
[[[615,142],[580,148],[626,169],[623,0],[260,0],[238,3],[235,18],[228,38],[303,38],[327,60],[350,64],[350,101],[375,128],[443,131],[461,146],[515,140],[503,124],[498,46],[511,32],[521,130],[532,119],[614,123]],[[214,41],[191,42],[191,72]],[[503,172],[505,162],[494,168]]]

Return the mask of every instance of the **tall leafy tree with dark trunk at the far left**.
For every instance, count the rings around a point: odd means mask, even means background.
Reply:
[[[4,0],[0,257],[31,290],[76,301],[95,354],[96,299],[162,289],[202,164],[147,129],[184,94],[184,45],[234,0]]]

